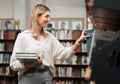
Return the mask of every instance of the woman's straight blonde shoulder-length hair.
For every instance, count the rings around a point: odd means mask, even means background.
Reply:
[[[33,10],[32,10],[32,15],[31,15],[31,23],[30,23],[30,28],[32,28],[35,32],[38,28],[38,23],[37,23],[37,17],[41,16],[44,14],[46,11],[50,12],[50,9],[43,5],[43,4],[37,4]],[[39,31],[39,30],[38,30]],[[47,33],[45,33],[44,29],[41,29],[41,35],[44,37],[47,37]]]

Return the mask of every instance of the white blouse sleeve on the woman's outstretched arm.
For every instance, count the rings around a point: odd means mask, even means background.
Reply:
[[[54,36],[53,36],[53,56],[56,59],[67,59],[75,54],[72,47],[64,47]]]

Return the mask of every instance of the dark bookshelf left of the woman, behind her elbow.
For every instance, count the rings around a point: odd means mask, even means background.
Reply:
[[[14,42],[20,30],[4,30],[0,38],[0,84],[17,84],[17,72],[10,69],[9,62]]]

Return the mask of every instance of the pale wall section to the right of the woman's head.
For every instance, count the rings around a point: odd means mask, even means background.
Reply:
[[[84,18],[86,28],[85,0],[43,0],[51,9],[52,18]]]

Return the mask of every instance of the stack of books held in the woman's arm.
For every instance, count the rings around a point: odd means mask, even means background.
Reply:
[[[37,60],[36,53],[16,53],[16,58],[24,63],[31,63]]]

